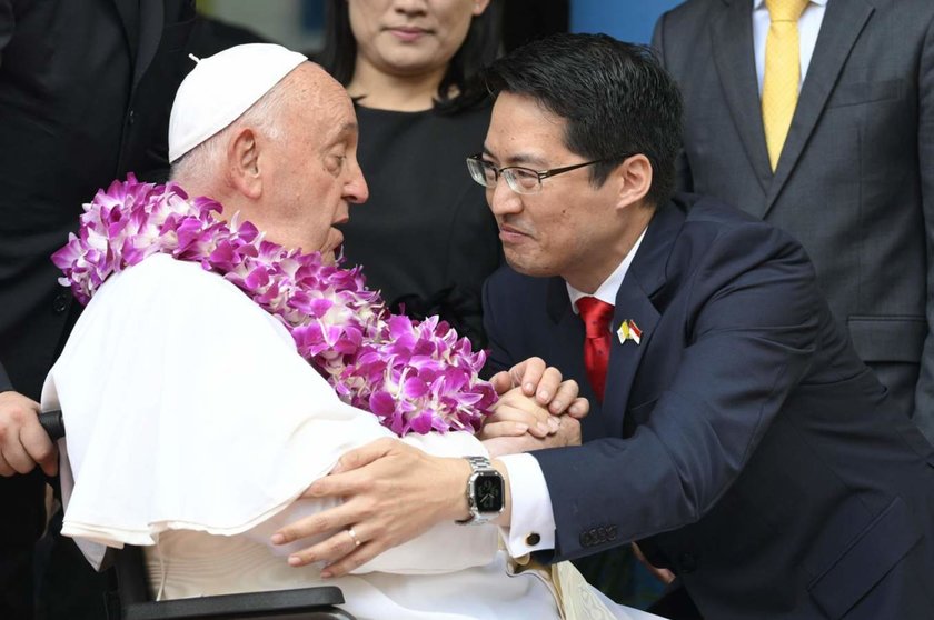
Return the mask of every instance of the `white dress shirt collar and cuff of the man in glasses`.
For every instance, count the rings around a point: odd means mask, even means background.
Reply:
[[[647,230],[647,229],[646,229]],[[623,258],[613,273],[597,287],[594,293],[578,291],[567,282],[570,307],[577,313],[577,300],[582,297],[596,297],[600,301],[616,304],[616,293],[633,263],[636,252],[645,238],[645,230],[633,244],[633,249]],[[509,473],[509,492],[513,501],[513,516],[508,528],[500,528],[506,549],[514,558],[526,553],[555,548],[555,513],[552,509],[552,496],[541,467],[531,454],[507,454],[499,461]]]

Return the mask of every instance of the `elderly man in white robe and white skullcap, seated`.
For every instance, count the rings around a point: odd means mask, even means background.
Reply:
[[[356,144],[344,89],[277,46],[202,60],[172,109],[173,180],[189,196],[222,203],[220,217],[239,213],[268,241],[326,258],[341,242],[335,224],[347,220],[349,203],[367,198]],[[529,376],[541,377],[536,372]],[[575,388],[549,379],[546,397],[564,400],[552,402],[553,411],[582,408]],[[342,402],[282,322],[240,288],[167,253],[100,287],[49,374],[42,403],[61,408],[68,429],[62,533],[92,563],[102,546],[142,546],[158,599],[325,581],[320,566],[289,566],[292,549],[270,537],[330,506],[302,492],[342,453],[394,436],[372,413]],[[497,419],[503,434],[535,424],[526,404]],[[527,433],[529,447],[579,441],[572,418],[538,430]],[[488,446],[497,439],[505,438]],[[463,431],[400,441],[435,456],[489,456]],[[366,543],[352,529],[348,536]],[[450,522],[327,581],[361,619],[648,617],[613,604],[569,566],[557,587],[558,572],[517,569],[499,551],[499,536],[495,523]]]

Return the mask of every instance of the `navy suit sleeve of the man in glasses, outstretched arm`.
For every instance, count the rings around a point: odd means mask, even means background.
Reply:
[[[694,260],[696,270],[679,284],[687,303],[677,306],[677,317],[663,316],[684,322],[685,347],[649,341],[640,364],[639,372],[672,372],[654,406],[643,404],[653,408],[647,421],[628,439],[533,452],[557,526],[555,554],[545,560],[700,519],[739,476],[811,364],[821,301],[795,241],[749,222],[719,233]],[[650,360],[654,346],[679,360]],[[594,528],[613,531],[615,542],[588,541],[585,532]]]

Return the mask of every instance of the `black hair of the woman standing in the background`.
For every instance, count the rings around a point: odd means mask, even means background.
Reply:
[[[490,0],[483,14],[470,20],[467,38],[450,59],[447,72],[438,84],[435,109],[439,112],[457,112],[470,108],[487,98],[480,81],[480,69],[489,64],[499,53],[500,0]],[[325,4],[325,46],[316,59],[338,82],[344,86],[354,78],[357,63],[357,41],[350,30],[350,14],[347,0],[327,0]],[[450,96],[451,87],[456,94]]]

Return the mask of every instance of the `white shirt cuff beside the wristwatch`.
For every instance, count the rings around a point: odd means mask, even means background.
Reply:
[[[509,473],[513,516],[499,528],[513,558],[555,548],[555,516],[541,467],[531,454],[507,454],[498,460]]]

